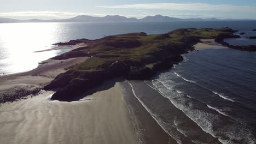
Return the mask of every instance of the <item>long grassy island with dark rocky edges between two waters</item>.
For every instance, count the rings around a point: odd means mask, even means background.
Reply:
[[[241,38],[233,29],[225,27],[177,29],[165,34],[128,33],[107,36],[97,40],[79,39],[57,45],[86,44],[72,51],[53,57],[56,60],[88,57],[84,62],[68,67],[44,90],[54,89],[51,99],[72,101],[78,95],[100,86],[104,81],[123,77],[127,80],[147,80],[158,71],[169,69],[183,61],[183,53],[194,50],[201,39],[214,39],[232,49],[256,51],[255,45],[234,46],[226,38]]]

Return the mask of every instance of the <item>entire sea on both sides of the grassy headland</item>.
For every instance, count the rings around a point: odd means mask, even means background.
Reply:
[[[36,68],[38,62],[68,50],[50,49],[71,39],[98,39],[131,32],[159,34],[177,28],[229,26],[246,35],[226,39],[256,44],[246,37],[256,21],[4,23],[0,24],[0,73]],[[135,97],[177,143],[256,143],[256,52],[204,49],[148,81],[128,81]]]

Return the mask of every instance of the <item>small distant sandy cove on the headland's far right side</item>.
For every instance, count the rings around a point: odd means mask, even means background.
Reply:
[[[194,45],[195,50],[225,48],[225,46],[216,43],[214,39],[201,39],[201,41],[202,43]]]

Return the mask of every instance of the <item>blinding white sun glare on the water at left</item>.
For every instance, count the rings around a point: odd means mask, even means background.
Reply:
[[[38,62],[54,57],[58,23],[0,24],[0,75],[20,73],[37,67]]]

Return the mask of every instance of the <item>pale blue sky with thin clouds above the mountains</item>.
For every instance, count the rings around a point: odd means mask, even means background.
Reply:
[[[0,0],[0,17],[68,19],[77,15],[148,15],[182,19],[256,19],[256,0]]]

